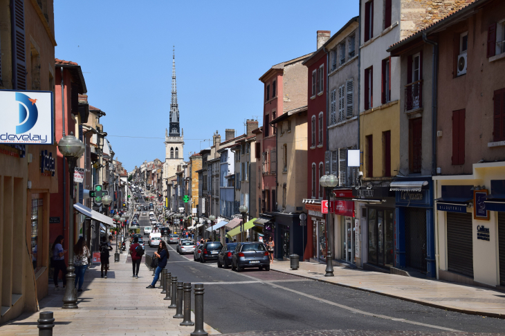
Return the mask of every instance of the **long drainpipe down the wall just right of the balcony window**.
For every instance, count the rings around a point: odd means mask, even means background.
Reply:
[[[433,46],[432,59],[432,176],[437,175],[437,86],[439,84],[439,44],[428,39],[426,33],[423,33],[423,41]],[[437,193],[437,181],[434,181],[434,193]],[[437,279],[439,279],[439,221],[437,216],[437,208],[433,209],[433,220],[435,227],[435,270],[437,271]]]

